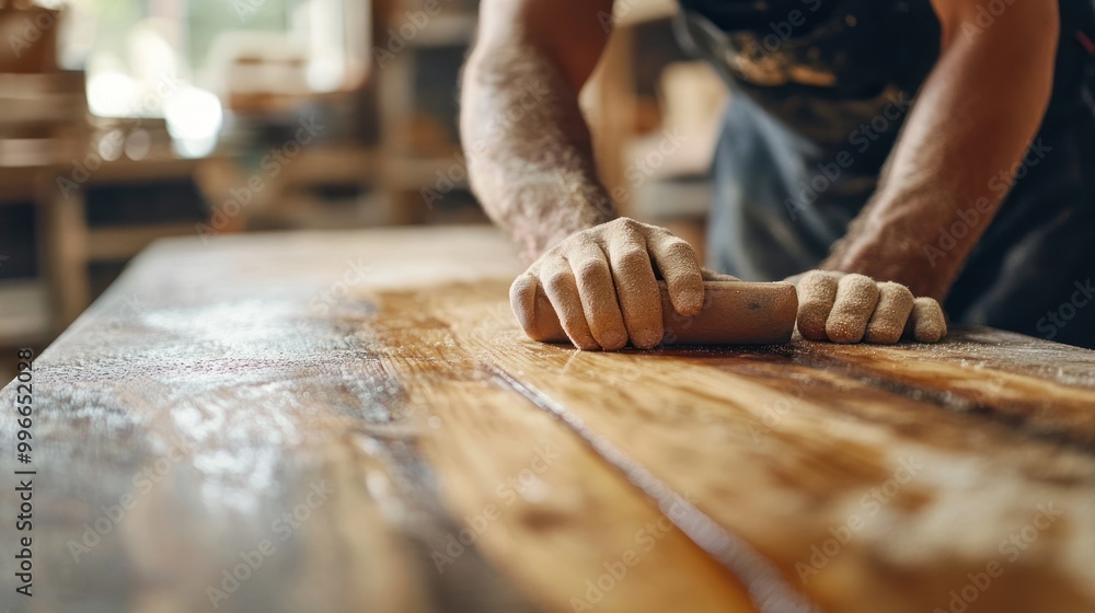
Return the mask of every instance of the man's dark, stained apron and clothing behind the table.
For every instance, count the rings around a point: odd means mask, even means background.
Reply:
[[[817,267],[873,194],[938,56],[929,0],[681,4],[682,43],[731,90],[708,265],[749,280]],[[1095,347],[1095,4],[1060,4],[1053,95],[1030,163],[945,308],[958,322]]]

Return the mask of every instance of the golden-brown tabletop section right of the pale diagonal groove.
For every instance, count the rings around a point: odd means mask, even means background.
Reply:
[[[946,610],[993,560],[1004,575],[969,611],[1095,606],[1095,354],[983,329],[930,349],[577,352],[527,340],[504,289],[424,298],[483,359],[689,493],[826,610]],[[887,486],[902,460],[915,474]],[[871,498],[877,487],[890,489]],[[1062,514],[1012,562],[1001,542],[1039,506]],[[796,571],[853,516],[835,555]]]

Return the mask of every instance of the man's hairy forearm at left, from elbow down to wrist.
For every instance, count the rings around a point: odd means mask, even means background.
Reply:
[[[472,189],[530,259],[615,217],[577,92],[538,49],[476,49],[464,71],[460,126]]]

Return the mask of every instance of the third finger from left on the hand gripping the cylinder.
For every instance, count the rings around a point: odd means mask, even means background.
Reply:
[[[616,303],[612,271],[601,247],[592,242],[575,246],[566,255],[578,284],[581,310],[586,313],[589,332],[601,348],[609,351],[627,344],[627,328]]]

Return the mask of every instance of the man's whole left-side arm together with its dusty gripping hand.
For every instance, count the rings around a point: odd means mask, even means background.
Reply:
[[[703,308],[703,270],[668,230],[616,218],[597,178],[578,92],[608,39],[612,0],[483,0],[463,79],[460,130],[472,189],[532,262],[510,287],[532,338],[543,292],[581,349],[649,348],[672,309]]]

